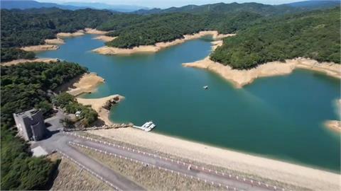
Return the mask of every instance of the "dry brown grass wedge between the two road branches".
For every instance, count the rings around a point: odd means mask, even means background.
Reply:
[[[185,178],[182,175],[158,170],[151,166],[144,166],[141,163],[135,163],[107,156],[102,153],[77,147],[88,156],[112,168],[112,170],[124,175],[126,178],[138,183],[147,190],[222,190],[219,187],[204,183],[199,180]]]

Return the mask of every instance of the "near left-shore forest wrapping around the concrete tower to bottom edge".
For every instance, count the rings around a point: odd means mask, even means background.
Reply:
[[[31,157],[28,144],[11,128],[12,114],[34,107],[50,115],[53,98],[48,90],[86,71],[68,62],[1,66],[1,190],[46,190],[57,163]]]

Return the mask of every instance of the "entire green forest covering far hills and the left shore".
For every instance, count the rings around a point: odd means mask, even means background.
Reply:
[[[18,47],[40,45],[60,32],[84,28],[110,31],[117,36],[108,46],[132,48],[168,42],[200,30],[237,33],[224,39],[210,54],[234,69],[250,69],[271,61],[309,57],[340,63],[340,7],[320,11],[262,4],[184,6],[144,13],[114,13],[58,8],[1,9],[1,62],[33,59]],[[305,11],[305,12],[303,12]],[[26,141],[16,137],[13,112],[40,108],[46,116],[53,104],[73,113],[82,110],[82,125],[97,120],[97,112],[77,103],[70,94],[50,91],[87,72],[69,62],[33,62],[1,66],[1,189],[45,190],[58,163],[31,157]]]

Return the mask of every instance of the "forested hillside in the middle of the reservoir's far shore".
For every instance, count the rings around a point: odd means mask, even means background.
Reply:
[[[200,30],[218,30],[219,33],[236,33],[263,16],[256,13],[167,13],[148,16],[130,15],[127,20],[112,19],[99,26],[114,30],[108,35],[118,36],[108,46],[131,48],[168,42]]]

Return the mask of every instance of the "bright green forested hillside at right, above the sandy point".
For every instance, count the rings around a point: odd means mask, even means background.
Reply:
[[[340,63],[340,7],[263,21],[225,38],[210,57],[235,69],[295,57]]]

